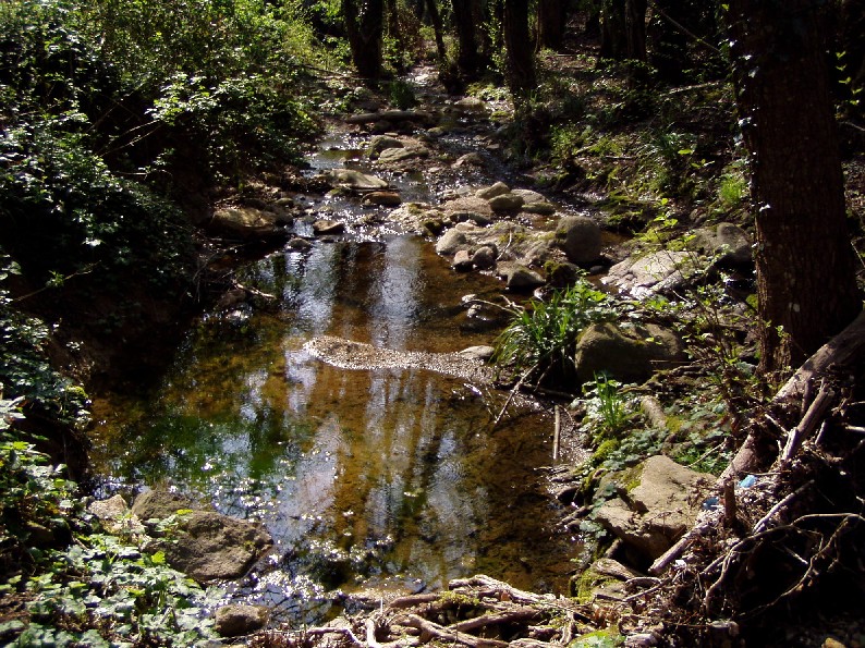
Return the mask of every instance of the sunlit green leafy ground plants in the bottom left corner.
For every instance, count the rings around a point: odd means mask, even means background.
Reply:
[[[15,646],[204,646],[215,639],[208,595],[165,554],[95,533],[76,485],[21,440],[21,399],[0,398],[0,596],[26,600],[29,624],[4,626]],[[47,528],[62,549],[33,542]],[[218,592],[211,592],[215,596]]]

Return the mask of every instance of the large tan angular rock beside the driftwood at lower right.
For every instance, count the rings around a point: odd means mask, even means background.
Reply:
[[[643,463],[638,482],[625,499],[605,502],[595,519],[648,562],[691,528],[700,510],[696,494],[714,478],[656,455]]]

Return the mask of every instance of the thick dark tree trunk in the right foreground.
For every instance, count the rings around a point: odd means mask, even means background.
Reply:
[[[828,4],[732,0],[751,152],[760,368],[800,365],[860,311],[826,56]],[[780,332],[782,329],[782,332]]]

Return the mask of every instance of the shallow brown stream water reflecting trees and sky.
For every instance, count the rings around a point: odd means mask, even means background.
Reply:
[[[309,173],[355,159],[353,137],[329,135]],[[389,180],[403,199],[430,199],[419,173]],[[337,367],[305,347],[322,335],[398,352],[491,344],[501,322],[470,318],[463,296],[495,301],[501,282],[369,227],[356,198],[297,199],[346,234],[242,266],[237,280],[276,304],[205,314],[157,386],[96,400],[102,494],[170,488],[260,521],[273,550],[227,585],[282,620],[475,573],[565,591],[580,547],[556,527],[548,409],[517,399],[494,426],[507,393],[425,367]],[[310,236],[309,222],[294,233]]]

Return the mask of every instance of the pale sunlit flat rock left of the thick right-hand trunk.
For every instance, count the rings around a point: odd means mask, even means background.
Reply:
[[[689,252],[661,250],[643,257],[629,257],[616,264],[604,283],[643,298],[665,290],[682,286],[686,274],[694,270],[693,254]]]

